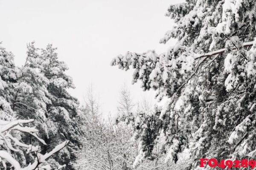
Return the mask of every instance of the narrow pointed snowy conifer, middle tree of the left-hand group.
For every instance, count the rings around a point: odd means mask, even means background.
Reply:
[[[46,118],[46,104],[50,102],[46,97],[48,79],[40,72],[38,49],[34,43],[28,44],[27,48],[25,65],[18,69],[17,81],[13,83],[12,108],[21,118],[34,119],[34,125],[44,136],[48,135],[50,127],[47,126]],[[25,143],[44,146],[29,133],[22,134],[22,140]],[[30,159],[31,155],[26,156],[26,164],[31,161]]]

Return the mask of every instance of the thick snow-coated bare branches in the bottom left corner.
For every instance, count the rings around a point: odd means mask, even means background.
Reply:
[[[40,139],[36,135],[36,132],[38,131],[37,129],[34,127],[23,126],[23,124],[27,124],[33,121],[33,119],[15,120],[12,122],[0,120],[0,146],[2,148],[2,150],[0,150],[0,161],[2,162],[5,169],[7,167],[6,163],[9,163],[15,170],[51,170],[50,165],[47,164],[47,159],[54,153],[57,153],[59,150],[64,148],[69,142],[66,140],[65,142],[57,145],[49,153],[42,155],[38,152],[38,146],[33,146],[32,144],[24,144],[15,138],[15,136],[13,136],[13,131],[29,133],[43,144],[46,144],[43,139]],[[24,168],[20,167],[19,162],[16,161],[10,153],[10,151],[19,152],[21,149],[26,149],[26,153],[35,153],[34,162],[31,162],[27,167]]]

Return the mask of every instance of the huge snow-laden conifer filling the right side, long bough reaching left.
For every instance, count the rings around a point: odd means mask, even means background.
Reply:
[[[191,169],[205,157],[255,159],[255,1],[186,0],[171,5],[166,16],[175,25],[160,42],[176,39],[175,46],[162,54],[128,51],[111,62],[133,68],[133,83],[141,80],[143,90],[169,100],[154,112],[159,121],[143,123],[140,155],[152,157],[154,139],[163,130],[166,162],[176,162],[185,148]]]

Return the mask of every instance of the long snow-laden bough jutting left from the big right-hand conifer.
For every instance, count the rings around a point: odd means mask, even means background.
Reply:
[[[237,50],[233,44],[232,50]],[[244,42],[243,48],[253,46],[253,41]],[[125,55],[118,55],[111,61],[111,65],[117,65],[122,70],[134,69],[132,84],[141,80],[143,90],[150,88],[157,91],[156,97],[160,101],[163,96],[175,96],[186,85],[192,77],[197,76],[201,68],[207,68],[219,54],[227,51],[222,48],[204,54],[194,54],[189,47],[176,44],[170,47],[164,54],[157,54],[155,51],[147,51],[143,54],[127,52]],[[208,61],[209,57],[215,57]],[[196,62],[197,60],[197,62]],[[205,66],[206,65],[206,66]],[[131,66],[131,67],[130,67]],[[170,87],[166,90],[166,87]]]

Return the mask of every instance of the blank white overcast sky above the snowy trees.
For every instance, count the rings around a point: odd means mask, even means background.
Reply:
[[[26,44],[38,48],[58,47],[58,57],[70,68],[76,89],[70,90],[83,103],[92,83],[102,112],[116,111],[120,86],[125,82],[135,101],[154,92],[143,92],[140,82],[131,85],[132,71],[111,67],[110,62],[126,51],[165,52],[174,44],[159,44],[172,26],[164,14],[178,0],[0,0],[0,41],[23,65]]]

